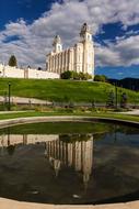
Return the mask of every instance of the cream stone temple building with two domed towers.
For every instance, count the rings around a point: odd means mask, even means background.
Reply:
[[[88,73],[94,77],[94,46],[92,33],[86,23],[81,28],[80,41],[73,47],[62,50],[59,35],[54,38],[54,51],[47,55],[47,70],[61,74],[67,70]]]

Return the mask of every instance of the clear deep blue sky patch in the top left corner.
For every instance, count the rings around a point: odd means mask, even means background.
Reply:
[[[38,19],[45,11],[50,9],[53,0],[1,0],[0,28],[10,21],[23,18],[27,23]]]

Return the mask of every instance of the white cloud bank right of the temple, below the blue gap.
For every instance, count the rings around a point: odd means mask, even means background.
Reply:
[[[131,66],[139,65],[139,35],[117,38],[108,46],[96,44],[96,66]]]

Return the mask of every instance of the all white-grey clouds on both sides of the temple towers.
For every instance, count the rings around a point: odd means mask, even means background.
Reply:
[[[79,40],[82,23],[88,22],[96,35],[102,25],[120,22],[123,29],[139,22],[138,0],[62,0],[51,4],[32,24],[23,19],[10,22],[0,32],[0,59],[8,62],[15,54],[20,65],[44,66],[46,54],[51,51],[54,36],[58,33],[63,46],[73,45]],[[126,32],[125,32],[126,33]],[[95,43],[96,66],[129,66],[139,64],[139,36],[116,37],[106,46]],[[16,40],[12,37],[16,36]]]

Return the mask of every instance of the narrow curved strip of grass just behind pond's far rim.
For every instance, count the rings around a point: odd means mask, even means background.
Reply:
[[[1,113],[0,120],[7,119],[16,119],[16,118],[28,118],[28,117],[50,117],[50,116],[84,116],[84,117],[100,117],[100,118],[111,118],[111,119],[120,119],[127,121],[139,122],[139,117],[137,116],[127,116],[121,113],[113,113],[113,112],[11,112],[11,113]]]

